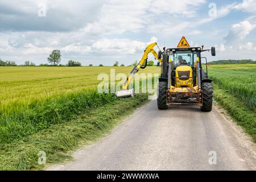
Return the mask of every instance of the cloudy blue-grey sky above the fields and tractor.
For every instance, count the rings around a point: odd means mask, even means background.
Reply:
[[[1,0],[0,58],[47,63],[60,49],[62,64],[127,65],[148,43],[176,47],[185,36],[216,46],[209,60],[255,60],[255,27],[256,0]]]

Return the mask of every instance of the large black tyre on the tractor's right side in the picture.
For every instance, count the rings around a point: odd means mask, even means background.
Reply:
[[[201,111],[209,112],[212,110],[213,86],[211,83],[205,82],[202,84],[202,89],[203,106],[201,106]]]

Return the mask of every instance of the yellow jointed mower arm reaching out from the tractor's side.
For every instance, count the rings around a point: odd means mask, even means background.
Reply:
[[[141,69],[141,66],[143,65],[144,61],[147,60],[147,55],[148,53],[152,52],[154,55],[155,59],[157,59],[160,63],[162,63],[162,58],[158,59],[158,53],[155,52],[153,49],[157,43],[152,43],[147,46],[147,48],[144,51],[144,54],[141,58],[141,61],[139,61],[138,65],[133,68],[133,70],[129,73],[129,76],[127,77],[125,83],[121,86],[121,90],[126,90],[130,84],[130,81],[133,79],[134,75]]]

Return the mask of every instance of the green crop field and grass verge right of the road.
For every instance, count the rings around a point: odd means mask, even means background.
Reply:
[[[256,142],[256,65],[210,65],[214,99]]]

